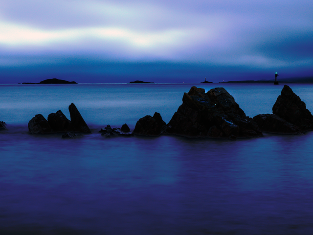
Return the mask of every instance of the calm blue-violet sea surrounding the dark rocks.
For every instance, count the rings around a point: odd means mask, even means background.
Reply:
[[[253,117],[283,85],[0,85],[0,234],[313,234],[313,132],[230,140],[105,139],[107,124],[168,122],[183,92],[223,86]],[[289,84],[313,111],[313,86]],[[73,102],[92,130],[75,140],[27,133]]]

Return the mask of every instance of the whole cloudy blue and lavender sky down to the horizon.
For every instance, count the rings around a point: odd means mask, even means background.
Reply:
[[[1,0],[0,83],[313,76],[312,0]]]

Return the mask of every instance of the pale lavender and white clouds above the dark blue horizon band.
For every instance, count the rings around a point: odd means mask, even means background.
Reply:
[[[2,0],[0,61],[310,67],[312,9],[307,0]]]

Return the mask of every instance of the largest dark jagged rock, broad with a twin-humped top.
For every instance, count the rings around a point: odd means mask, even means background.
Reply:
[[[205,93],[192,87],[167,124],[166,133],[186,137],[241,138],[263,136],[258,125],[246,116],[224,88]]]

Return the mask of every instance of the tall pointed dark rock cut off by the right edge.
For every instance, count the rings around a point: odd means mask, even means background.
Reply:
[[[273,114],[299,127],[301,131],[313,130],[313,116],[300,97],[284,86],[273,108]]]

